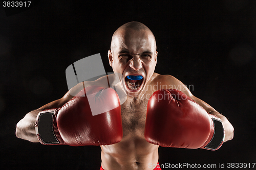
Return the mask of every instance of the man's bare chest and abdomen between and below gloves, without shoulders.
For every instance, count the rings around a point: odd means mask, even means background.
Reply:
[[[121,105],[123,138],[119,143],[101,146],[105,170],[153,169],[149,165],[157,164],[158,145],[144,138],[147,102],[156,90],[146,90],[142,98],[127,99]]]

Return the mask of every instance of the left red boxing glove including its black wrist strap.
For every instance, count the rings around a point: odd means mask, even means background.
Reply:
[[[82,146],[117,143],[122,139],[118,95],[112,88],[89,86],[61,108],[41,111],[35,129],[42,144]]]

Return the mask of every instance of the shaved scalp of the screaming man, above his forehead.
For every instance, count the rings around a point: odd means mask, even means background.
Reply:
[[[156,46],[156,40],[155,40],[155,36],[152,33],[152,31],[146,27],[143,23],[141,22],[137,22],[137,21],[132,21],[132,22],[127,22],[124,25],[122,25],[121,27],[119,27],[113,34],[112,36],[112,41],[111,41],[111,51],[113,52],[115,47],[116,47],[116,40],[120,37],[123,37],[127,34],[133,34],[134,31],[136,32],[144,32],[149,34],[150,36],[153,36],[154,38],[154,43]]]

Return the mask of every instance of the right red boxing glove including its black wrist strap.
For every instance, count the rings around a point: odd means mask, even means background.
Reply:
[[[217,150],[224,140],[220,118],[176,89],[158,90],[147,104],[146,141],[162,147]]]

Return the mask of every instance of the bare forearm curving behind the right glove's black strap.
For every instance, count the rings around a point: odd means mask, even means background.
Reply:
[[[220,114],[217,111],[210,111],[208,112],[209,114],[213,114],[216,115],[217,117],[219,117],[222,121],[224,130],[225,130],[225,138],[224,138],[224,142],[231,140],[233,138],[233,132],[234,132],[234,128],[233,126],[230,124],[230,122],[228,121],[228,119],[223,116],[222,114]]]

